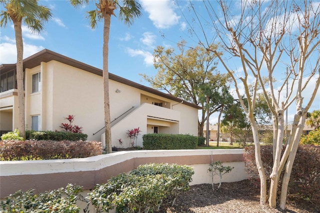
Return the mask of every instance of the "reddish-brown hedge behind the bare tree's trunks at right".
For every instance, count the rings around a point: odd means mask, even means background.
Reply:
[[[283,147],[284,150],[285,147]],[[282,152],[283,152],[282,150]],[[261,146],[261,158],[266,177],[272,172],[272,145]],[[254,146],[245,147],[245,168],[249,178],[258,181],[255,165]],[[282,175],[280,176],[282,182]],[[278,185],[281,188],[281,185]],[[320,200],[320,146],[299,145],[288,184],[288,198],[291,200],[309,200],[318,203]],[[320,210],[320,208],[318,209]]]

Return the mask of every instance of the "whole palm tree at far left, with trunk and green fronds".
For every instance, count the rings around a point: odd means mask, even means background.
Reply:
[[[18,89],[18,112],[20,136],[25,138],[24,92],[23,92],[23,41],[22,22],[32,32],[43,30],[43,23],[51,18],[50,9],[38,5],[37,0],[0,0],[6,10],[0,11],[0,26],[5,27],[8,21],[13,22],[16,44],[16,80]]]

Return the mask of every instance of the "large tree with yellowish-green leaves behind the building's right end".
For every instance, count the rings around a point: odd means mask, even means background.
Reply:
[[[212,113],[221,109],[221,91],[222,88],[228,88],[230,78],[216,70],[216,54],[201,46],[187,50],[185,46],[184,40],[178,42],[178,53],[174,48],[157,46],[153,52],[154,67],[158,70],[156,75],[141,75],[153,88],[165,90],[202,107],[198,119],[198,136],[203,136],[204,122]],[[216,48],[216,45],[212,44],[211,47]],[[206,109],[209,109],[208,115]]]

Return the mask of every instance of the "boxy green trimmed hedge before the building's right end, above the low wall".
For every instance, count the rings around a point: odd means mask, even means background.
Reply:
[[[143,134],[143,148],[154,149],[195,149],[198,137],[188,134]]]

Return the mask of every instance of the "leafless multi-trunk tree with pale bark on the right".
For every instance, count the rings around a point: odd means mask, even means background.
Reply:
[[[253,111],[257,92],[261,91],[267,100],[273,126],[273,167],[269,176],[268,204],[270,207],[276,206],[279,175],[284,168],[279,200],[280,208],[284,209],[289,176],[306,113],[320,83],[320,2],[203,0],[202,4],[207,10],[206,17],[197,11],[194,2],[190,4],[190,9],[195,15],[195,18],[188,22],[190,31],[197,36],[199,43],[207,51],[216,53],[233,80],[235,91],[252,128],[255,160],[260,176],[261,204],[267,202],[267,177],[261,161]],[[221,43],[220,47],[225,52],[223,57],[217,54],[219,49],[210,48],[212,40]],[[229,58],[226,57],[227,53]],[[235,60],[239,62],[240,68],[237,68],[241,71],[230,67],[231,62],[233,64]],[[286,67],[289,70],[287,73],[285,73]],[[283,73],[284,80],[274,81],[275,75],[280,73]],[[263,83],[265,77],[268,79],[267,84]],[[314,83],[310,83],[311,80],[314,80]],[[249,85],[252,82],[253,89],[250,90]],[[289,85],[289,92],[282,98],[286,84]],[[307,85],[310,98],[303,101],[302,92],[306,90]],[[243,89],[243,92],[240,89]],[[243,94],[245,99],[242,98]],[[293,125],[284,154],[281,155],[284,111],[294,102],[296,112]]]

